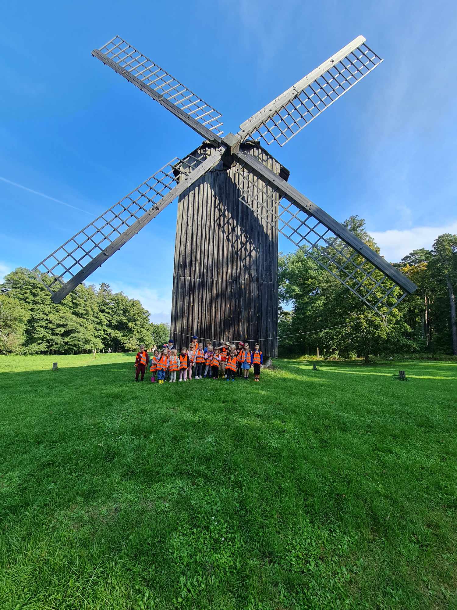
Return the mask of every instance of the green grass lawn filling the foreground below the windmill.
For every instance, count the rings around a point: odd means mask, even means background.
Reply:
[[[0,607],[456,608],[457,365],[275,365],[0,357]]]

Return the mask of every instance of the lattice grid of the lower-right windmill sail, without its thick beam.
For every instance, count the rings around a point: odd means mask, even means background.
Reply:
[[[275,185],[243,163],[236,171],[241,192],[239,201],[262,220],[277,226],[280,234],[324,267],[381,317],[397,307],[408,294],[296,201],[288,201],[284,197],[278,203],[277,212],[272,212],[272,199],[278,196]],[[255,201],[257,208],[252,207],[249,201]],[[401,295],[397,294],[397,289],[402,291]]]

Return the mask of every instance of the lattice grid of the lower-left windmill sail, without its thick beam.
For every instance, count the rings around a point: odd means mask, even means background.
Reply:
[[[185,159],[175,157],[49,254],[34,267],[34,271],[52,278],[49,284],[43,282],[49,292],[54,293],[65,285],[145,213],[150,210],[154,210],[155,215],[160,213],[163,199],[178,184],[179,178],[188,176],[205,159],[204,153]]]

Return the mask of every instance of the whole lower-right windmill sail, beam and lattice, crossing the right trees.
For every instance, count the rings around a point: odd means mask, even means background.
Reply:
[[[361,242],[345,226],[307,199],[255,157],[240,152],[239,200],[378,314],[384,315],[417,289],[399,270]],[[277,212],[271,199],[282,196]],[[252,202],[255,201],[255,208]]]

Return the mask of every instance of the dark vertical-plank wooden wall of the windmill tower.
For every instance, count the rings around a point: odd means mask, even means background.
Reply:
[[[258,143],[241,148],[288,178]],[[221,162],[179,198],[171,336],[177,346],[193,334],[216,344],[247,340],[251,348],[263,339],[261,351],[276,357],[277,339],[267,337],[277,336],[278,232],[239,196],[235,169]]]

